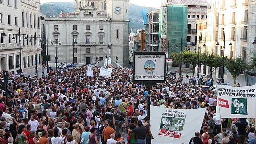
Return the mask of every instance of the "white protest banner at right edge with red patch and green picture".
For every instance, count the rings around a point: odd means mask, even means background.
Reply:
[[[232,87],[217,85],[217,100],[221,118],[255,118],[255,86]]]

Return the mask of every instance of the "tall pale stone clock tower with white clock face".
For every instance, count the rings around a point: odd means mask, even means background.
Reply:
[[[107,0],[107,17],[111,19],[111,57],[129,65],[129,0]],[[113,55],[114,54],[114,55]]]

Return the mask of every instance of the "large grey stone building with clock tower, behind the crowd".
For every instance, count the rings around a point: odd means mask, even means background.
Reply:
[[[56,45],[48,47],[49,65],[55,66],[56,60],[90,64],[110,55],[113,60],[117,56],[120,65],[128,66],[129,0],[75,1],[75,13],[46,17],[48,39],[58,41],[57,49]]]

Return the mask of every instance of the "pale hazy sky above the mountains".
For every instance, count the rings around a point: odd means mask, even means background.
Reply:
[[[67,1],[74,1],[74,0],[41,0],[41,3],[48,3],[48,2],[67,2]],[[148,6],[159,8],[161,6],[161,0],[130,0],[130,3],[136,4],[138,6]]]

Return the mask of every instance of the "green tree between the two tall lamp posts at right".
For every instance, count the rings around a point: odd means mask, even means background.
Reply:
[[[221,56],[211,54],[202,56],[202,63],[209,67],[209,74],[210,77],[212,73],[218,68],[222,66],[223,58]]]

